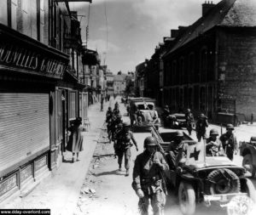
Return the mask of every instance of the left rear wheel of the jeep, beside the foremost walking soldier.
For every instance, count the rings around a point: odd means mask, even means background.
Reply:
[[[195,190],[191,184],[181,182],[178,187],[178,201],[184,215],[195,213]]]

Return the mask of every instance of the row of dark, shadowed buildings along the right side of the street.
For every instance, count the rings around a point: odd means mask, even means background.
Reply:
[[[253,0],[203,3],[199,20],[171,30],[137,65],[137,95],[172,111],[203,112],[212,122],[255,121],[255,11]]]

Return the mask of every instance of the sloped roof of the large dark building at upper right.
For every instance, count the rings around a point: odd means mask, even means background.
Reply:
[[[188,29],[176,38],[175,45],[165,56],[217,25],[254,27],[256,26],[255,11],[255,0],[223,0],[216,4],[205,16],[189,25]]]

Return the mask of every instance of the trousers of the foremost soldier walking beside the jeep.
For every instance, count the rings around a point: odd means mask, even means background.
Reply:
[[[163,190],[156,190],[156,192],[151,195],[145,194],[145,196],[139,200],[138,204],[142,215],[148,215],[148,207],[150,203],[154,215],[163,215],[164,207],[166,205],[165,192]]]

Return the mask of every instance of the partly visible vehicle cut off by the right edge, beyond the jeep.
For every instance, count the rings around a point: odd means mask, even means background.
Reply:
[[[256,137],[252,137],[250,142],[241,142],[239,145],[240,156],[242,159],[242,166],[251,173],[253,178],[256,173]]]

